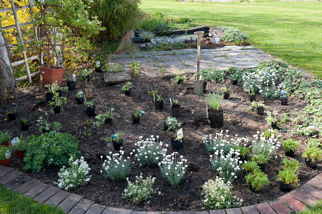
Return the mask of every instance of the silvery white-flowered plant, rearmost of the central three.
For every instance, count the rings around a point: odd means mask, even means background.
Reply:
[[[139,138],[142,139],[143,136]],[[167,146],[162,141],[159,142],[159,136],[155,138],[154,135],[151,135],[150,138],[146,138],[145,140],[138,141],[134,145],[136,146],[137,152],[135,157],[140,165],[150,166],[158,164],[156,157],[161,159],[163,157],[162,154],[167,151]]]

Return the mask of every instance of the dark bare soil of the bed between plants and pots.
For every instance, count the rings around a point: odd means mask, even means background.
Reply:
[[[239,137],[246,137],[251,144],[252,135],[256,131],[265,131],[270,126],[264,120],[266,115],[258,116],[256,111],[247,111],[246,108],[250,105],[249,95],[241,88],[241,83],[232,85],[231,98],[222,105],[224,110],[224,126],[219,129],[213,129],[209,126],[205,112],[205,100],[202,96],[194,95],[193,81],[195,77],[187,74],[188,79],[183,85],[171,85],[170,77],[144,79],[133,77],[131,89],[131,96],[125,96],[121,91],[122,84],[113,85],[110,87],[104,86],[103,73],[93,73],[89,82],[77,79],[76,90],[91,88],[93,93],[92,100],[96,106],[95,113],[104,113],[110,106],[115,107],[115,112],[120,115],[120,118],[113,118],[112,125],[101,125],[99,132],[97,127],[91,127],[91,139],[80,136],[80,132],[84,132],[86,121],[91,119],[85,114],[85,106],[76,104],[74,94],[76,91],[63,91],[63,96],[67,97],[67,104],[63,106],[64,111],[60,115],[49,113],[50,121],[57,121],[62,123],[60,132],[74,135],[79,140],[79,150],[81,156],[84,156],[85,161],[89,163],[91,168],[90,174],[92,178],[89,183],[81,185],[79,189],[71,190],[71,192],[80,194],[84,198],[94,200],[96,203],[107,205],[109,207],[133,209],[138,211],[166,211],[166,210],[202,210],[204,204],[200,191],[202,185],[208,179],[215,180],[217,173],[213,170],[209,161],[209,155],[212,154],[205,149],[202,142],[204,135],[215,134],[220,130],[229,130],[229,135],[237,134]],[[230,79],[225,81],[226,86],[230,86]],[[66,83],[63,83],[65,86]],[[207,91],[218,90],[223,86],[223,82],[214,83],[208,82]],[[164,110],[159,112],[155,109],[153,99],[147,95],[147,88],[159,88],[164,98]],[[41,135],[35,121],[39,116],[45,116],[45,111],[50,112],[48,103],[45,102],[46,88],[41,88],[40,84],[30,88],[17,89],[17,102],[8,104],[5,110],[1,110],[1,124],[2,130],[6,129],[12,132],[12,137],[23,135]],[[130,174],[129,180],[134,181],[135,176],[143,173],[143,176],[152,175],[156,177],[154,188],[159,188],[161,195],[154,196],[149,199],[147,203],[134,204],[122,198],[122,192],[127,187],[126,181],[110,181],[105,179],[100,170],[101,159],[100,156],[106,156],[109,151],[115,152],[112,145],[109,145],[103,140],[105,137],[115,134],[118,131],[123,131],[123,147],[125,154],[128,155],[135,149],[134,143],[139,140],[139,136],[144,138],[150,135],[159,135],[159,139],[166,144],[169,144],[168,154],[174,152],[171,148],[170,137],[172,134],[166,133],[163,126],[156,126],[156,123],[165,120],[168,116],[172,116],[170,107],[170,98],[176,98],[180,101],[181,116],[178,119],[182,122],[183,132],[185,135],[184,148],[178,151],[187,159],[188,168],[185,173],[185,178],[177,188],[172,188],[161,176],[159,168],[156,167],[142,167],[138,162],[135,162]],[[279,99],[266,99],[257,95],[256,100],[264,100],[265,105],[271,111],[277,110],[279,113],[297,112],[301,110],[307,101],[301,100],[297,97],[289,98],[288,106],[281,106]],[[17,120],[6,122],[6,113],[12,110],[17,105]],[[141,116],[140,124],[133,125],[131,115],[139,107],[146,113]],[[29,131],[21,132],[20,117],[29,117],[30,129]],[[95,117],[92,118],[96,121]],[[161,123],[162,125],[163,123]],[[288,129],[292,129],[293,124],[283,124]],[[280,141],[287,139],[290,133],[282,133]],[[304,159],[301,157],[306,145],[304,138],[296,136],[302,141],[302,145],[295,153],[295,159],[303,165],[299,169],[300,184],[310,180],[322,170],[321,165],[317,168],[311,169],[305,165]],[[14,154],[14,152],[13,152]],[[268,174],[271,184],[266,186],[258,194],[250,191],[249,187],[243,181],[242,172],[238,174],[238,178],[232,182],[233,195],[244,200],[243,206],[258,204],[262,202],[271,202],[285,193],[279,190],[279,182],[276,181],[279,169],[281,169],[280,161],[284,156],[282,147],[277,151],[278,158],[268,163],[265,173]],[[132,157],[133,158],[133,157]],[[17,160],[15,155],[12,155],[9,167],[19,169],[26,174],[39,179],[45,183],[54,185],[58,180],[57,173],[61,167],[45,167],[38,173],[31,173],[23,170],[24,162]],[[207,209],[207,208],[206,208]]]

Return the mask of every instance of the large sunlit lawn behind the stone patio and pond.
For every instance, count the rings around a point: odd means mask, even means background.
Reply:
[[[256,47],[322,77],[322,2],[142,0],[141,8],[149,14],[162,11],[198,23],[236,27],[248,33]]]

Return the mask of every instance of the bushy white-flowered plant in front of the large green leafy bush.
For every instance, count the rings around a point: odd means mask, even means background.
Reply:
[[[90,181],[90,167],[87,162],[84,161],[83,156],[81,156],[81,159],[76,159],[75,161],[71,156],[68,163],[70,167],[66,168],[66,166],[63,166],[58,172],[59,179],[56,184],[58,184],[59,188],[69,190],[78,187],[81,183]]]

